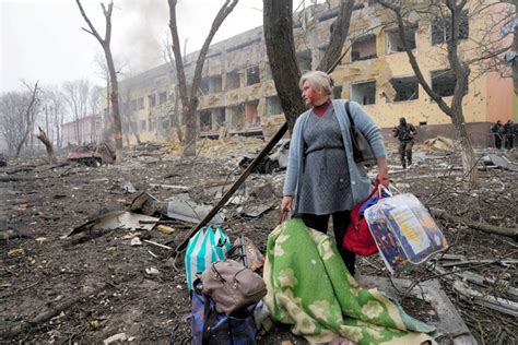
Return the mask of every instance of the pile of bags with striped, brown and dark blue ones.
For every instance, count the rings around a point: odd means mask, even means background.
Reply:
[[[255,344],[269,311],[267,287],[255,271],[264,257],[246,237],[231,246],[217,227],[200,229],[186,251],[187,285],[191,293],[191,344]]]

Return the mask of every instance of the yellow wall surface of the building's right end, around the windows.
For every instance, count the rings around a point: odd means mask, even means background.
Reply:
[[[378,13],[379,14],[379,13]],[[373,21],[368,15],[366,19],[358,19],[352,22],[351,37],[360,37],[362,32],[373,26],[379,20]],[[376,23],[375,23],[376,22]],[[378,23],[379,24],[379,23]],[[470,21],[470,37],[476,33],[484,32],[486,27],[482,20]],[[376,80],[376,104],[366,105],[364,108],[374,117],[376,122],[382,128],[397,126],[399,118],[404,116],[410,122],[419,124],[426,122],[427,124],[446,124],[451,120],[446,116],[439,107],[425,93],[424,88],[419,85],[419,99],[397,102],[387,102],[382,93],[393,96],[393,88],[390,79],[413,76],[414,72],[410,66],[409,58],[405,52],[388,53],[388,44],[386,32],[376,28],[368,34],[376,35],[376,59],[351,62],[350,53],[342,60],[332,73],[332,78],[337,85],[342,85],[342,97],[350,97],[350,86],[352,83],[366,82]],[[461,41],[459,51],[474,51],[474,44],[471,39]],[[424,78],[431,84],[431,72],[435,70],[444,70],[449,67],[446,45],[432,45],[431,25],[427,22],[421,22],[416,31],[416,49],[414,55],[419,62]],[[475,66],[470,66],[471,75],[468,94],[464,96],[463,114],[467,122],[485,122],[493,121],[493,110],[498,114],[509,115],[513,109],[513,85],[508,81],[495,75],[495,73],[482,73],[479,76],[479,70]],[[474,76],[478,78],[474,78]],[[391,98],[391,97],[390,97]],[[444,97],[444,100],[450,105],[452,97]],[[490,110],[493,109],[493,110]]]

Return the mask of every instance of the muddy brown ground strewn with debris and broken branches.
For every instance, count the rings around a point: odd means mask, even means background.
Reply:
[[[426,206],[474,222],[516,227],[517,172],[481,170],[479,187],[467,191],[461,188],[456,154],[419,146],[414,152],[426,157],[419,159],[417,155],[414,158],[417,165],[403,171],[398,166],[396,147],[389,145],[389,152],[393,164],[392,183],[403,192],[417,195]],[[478,156],[490,152],[495,151],[479,150]],[[505,155],[518,162],[516,152]],[[175,269],[168,250],[148,243],[130,246],[130,239],[125,237],[134,230],[64,236],[99,213],[128,210],[136,194],[125,192],[123,181],[131,181],[139,191],[148,191],[161,200],[177,193],[181,186],[192,200],[213,205],[242,172],[237,160],[237,155],[225,157],[223,154],[219,158],[180,158],[166,151],[129,151],[122,164],[101,167],[69,165],[49,169],[49,165],[42,165],[42,158],[10,160],[8,167],[0,168],[3,178],[0,230],[12,230],[10,239],[0,240],[0,342],[89,344],[101,343],[118,333],[138,343],[166,344],[172,336],[175,344],[188,342],[190,324],[186,317],[190,305],[183,258]],[[20,167],[27,168],[15,171]],[[5,181],[10,177],[19,180]],[[283,171],[278,171],[254,174],[247,179],[246,191],[242,188],[237,193],[242,200],[236,199],[237,204],[226,207],[225,225],[231,238],[244,234],[264,251],[267,236],[279,221],[283,177]],[[266,190],[272,192],[261,193],[263,186],[271,186]],[[240,215],[239,206],[251,203],[256,194],[262,197],[260,203],[271,205],[271,210],[258,217]],[[474,261],[511,260],[504,264],[474,262],[460,267],[499,283],[479,288],[483,294],[509,298],[497,286],[517,287],[517,242],[462,224],[437,222],[451,246],[449,254],[466,255]],[[172,235],[152,229],[140,231],[141,239],[181,242],[190,225],[172,226],[175,228]],[[358,259],[357,265],[360,275],[389,275],[377,254]],[[150,267],[160,274],[148,274],[145,270]],[[396,274],[412,279],[436,275],[431,267]],[[452,289],[450,279],[446,276],[439,279],[480,344],[518,341],[515,318],[461,298]],[[424,321],[434,318],[433,312],[423,312],[426,306],[419,300],[404,299],[403,305],[410,314]],[[280,325],[261,335],[259,343],[280,344],[284,340],[305,343],[291,335],[289,328]]]

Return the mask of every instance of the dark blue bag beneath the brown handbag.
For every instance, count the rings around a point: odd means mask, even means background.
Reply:
[[[214,301],[195,288],[192,290],[191,345],[256,344],[257,328],[254,311],[258,307],[260,307],[259,304],[243,310],[242,316],[228,317],[225,313],[219,313]]]

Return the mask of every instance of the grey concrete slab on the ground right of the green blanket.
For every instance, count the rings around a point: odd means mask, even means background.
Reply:
[[[412,284],[409,279],[389,278],[378,276],[360,276],[357,277],[360,285],[364,288],[377,287],[384,292],[388,297],[396,300],[401,299],[398,293],[407,290]],[[396,288],[395,288],[396,286]],[[446,296],[437,279],[423,282],[416,285],[409,294],[414,298],[424,299],[437,313],[438,321],[429,322],[443,334],[439,338],[439,344],[454,345],[476,345],[476,340],[471,335],[470,330],[462,321],[459,312]]]

